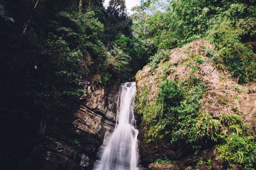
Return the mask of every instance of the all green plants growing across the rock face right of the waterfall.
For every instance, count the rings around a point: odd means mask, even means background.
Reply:
[[[205,92],[202,81],[196,78],[186,82],[165,80],[159,85],[156,100],[151,103],[147,101],[148,92],[144,88],[141,95],[136,96],[135,105],[143,115],[148,143],[161,138],[170,139],[170,143],[185,141],[195,153],[204,149],[205,143],[214,143],[220,147],[218,155],[229,166],[241,165],[245,169],[256,166],[255,138],[243,124],[242,117],[234,114],[213,118],[200,110],[200,98]],[[219,100],[227,103],[225,96]],[[164,159],[159,158],[156,162],[164,162]],[[207,164],[211,166],[211,159]]]

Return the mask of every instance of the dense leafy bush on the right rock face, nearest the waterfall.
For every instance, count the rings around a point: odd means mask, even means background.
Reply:
[[[191,131],[204,92],[204,83],[196,78],[186,82],[165,80],[159,86],[156,101],[148,104],[137,100],[136,110],[143,114],[143,121],[149,126],[148,142],[170,136],[172,143],[180,139],[193,143],[195,136]]]

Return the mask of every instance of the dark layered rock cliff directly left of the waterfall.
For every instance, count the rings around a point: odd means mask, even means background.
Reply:
[[[98,148],[115,127],[119,83],[111,88],[81,83],[84,96],[67,101],[73,111],[54,117],[63,138],[47,136],[36,146],[31,153],[31,169],[92,169]]]

